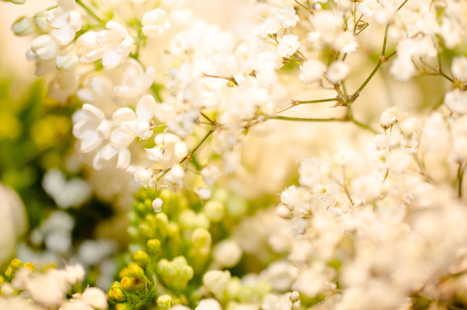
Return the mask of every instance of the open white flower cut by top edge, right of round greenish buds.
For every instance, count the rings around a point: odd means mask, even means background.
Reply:
[[[60,45],[71,43],[76,32],[81,29],[81,14],[75,8],[75,0],[58,0],[58,8],[47,14],[47,22],[57,29],[51,34]]]

